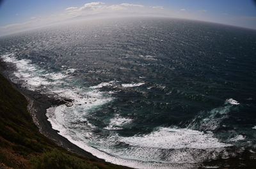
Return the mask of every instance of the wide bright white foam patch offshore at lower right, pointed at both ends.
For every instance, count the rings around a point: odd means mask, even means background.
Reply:
[[[123,137],[122,141],[134,146],[159,149],[209,149],[230,146],[219,142],[212,133],[186,128],[159,128],[148,135]]]

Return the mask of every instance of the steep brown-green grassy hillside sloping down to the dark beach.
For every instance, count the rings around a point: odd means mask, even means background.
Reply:
[[[26,98],[0,74],[0,168],[126,168],[84,158],[39,133]]]

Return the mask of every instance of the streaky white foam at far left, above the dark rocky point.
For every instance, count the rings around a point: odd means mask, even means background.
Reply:
[[[75,69],[69,68],[66,71],[47,73],[46,70],[39,68],[28,59],[17,59],[14,54],[6,54],[1,57],[5,62],[12,62],[16,65],[17,71],[14,72],[14,75],[24,80],[26,82],[23,84],[24,87],[28,87],[31,90],[41,90],[41,85],[46,86],[47,94],[73,99],[74,105],[79,105],[85,110],[111,101],[111,98],[103,97],[102,92],[88,91],[66,82],[65,79],[69,78],[67,72],[74,73]]]

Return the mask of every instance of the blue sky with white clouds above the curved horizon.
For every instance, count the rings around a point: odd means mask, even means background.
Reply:
[[[256,0],[0,0],[0,35],[116,16],[185,18],[256,29]]]

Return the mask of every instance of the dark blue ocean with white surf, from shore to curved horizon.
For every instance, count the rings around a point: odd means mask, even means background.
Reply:
[[[256,31],[169,18],[87,20],[0,37],[13,82],[52,98],[52,128],[137,168],[256,149]]]

